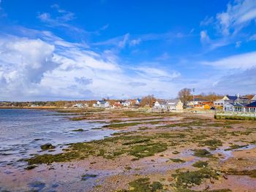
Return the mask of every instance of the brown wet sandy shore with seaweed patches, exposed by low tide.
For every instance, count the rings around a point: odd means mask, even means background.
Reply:
[[[256,122],[214,120],[212,115],[129,110],[106,110],[79,117],[85,122],[105,121],[109,123],[105,128],[114,129],[119,133],[114,134],[112,136],[114,139],[107,140],[108,142],[103,140],[99,144],[89,143],[92,147],[96,146],[95,150],[101,147],[100,149],[107,155],[90,153],[91,155],[83,159],[74,158],[71,161],[63,159],[63,162],[37,164],[37,167],[31,170],[24,169],[27,166],[26,162],[18,168],[12,165],[1,166],[0,189],[132,191],[136,188],[131,187],[129,183],[139,178],[149,178],[151,183],[154,181],[161,183],[163,191],[185,189],[255,191],[256,172],[253,174],[253,171],[256,170]],[[129,124],[135,122],[138,124]],[[118,124],[122,123],[127,123],[127,126],[119,127]],[[127,141],[126,137],[133,139]],[[148,139],[143,140],[145,138]],[[216,142],[217,140],[219,142]],[[145,151],[151,149],[147,148],[148,145],[157,147],[158,144],[165,144],[166,147],[161,152]],[[146,149],[138,147],[146,147]],[[139,153],[137,151],[132,153],[138,156],[130,153],[135,149],[142,150]],[[198,149],[205,149],[211,154],[197,156],[195,150]],[[79,150],[75,150],[79,155],[85,153]],[[116,152],[117,155],[108,158],[111,152]],[[174,162],[171,159],[181,161]],[[203,168],[193,166],[197,161],[207,161],[208,166]],[[177,172],[201,172],[203,169],[214,172],[214,175],[209,178],[202,177],[199,185],[195,183],[180,185],[177,182],[177,178],[184,179],[178,177]],[[178,176],[176,177],[175,174]],[[185,181],[190,182],[189,178]]]

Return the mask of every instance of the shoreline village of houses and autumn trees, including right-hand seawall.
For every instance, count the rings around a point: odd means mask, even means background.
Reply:
[[[105,110],[138,110],[150,112],[193,112],[215,113],[215,118],[256,120],[256,95],[240,96],[225,95],[192,96],[187,99],[156,99],[153,95],[141,99],[102,99],[91,101],[34,101],[34,102],[4,102],[0,108],[34,108],[34,109],[105,109]]]

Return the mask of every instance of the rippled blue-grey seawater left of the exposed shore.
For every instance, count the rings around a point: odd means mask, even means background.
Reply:
[[[59,153],[72,142],[103,139],[113,134],[101,130],[102,123],[69,120],[67,115],[55,115],[47,110],[0,110],[0,166],[34,154]],[[82,132],[72,131],[83,128]],[[40,145],[51,143],[56,151],[42,152]]]

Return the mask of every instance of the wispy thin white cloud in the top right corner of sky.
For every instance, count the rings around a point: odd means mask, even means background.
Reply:
[[[241,45],[244,40],[252,40],[249,27],[254,27],[256,21],[255,0],[233,0],[227,4],[224,12],[217,13],[216,17],[206,17],[200,26],[204,28],[200,40],[208,45],[209,50],[224,47],[230,44]],[[213,28],[208,28],[212,26]],[[206,28],[210,31],[206,33]]]

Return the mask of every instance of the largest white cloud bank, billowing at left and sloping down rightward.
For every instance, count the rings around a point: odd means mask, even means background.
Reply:
[[[36,37],[39,31],[31,31]],[[0,37],[1,100],[133,98],[176,96],[181,74],[118,63],[113,52],[95,53],[48,31],[41,39]],[[161,93],[161,95],[159,95]]]

